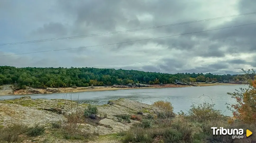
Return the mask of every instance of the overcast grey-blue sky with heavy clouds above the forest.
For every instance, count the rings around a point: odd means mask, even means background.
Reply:
[[[255,0],[1,0],[0,44],[168,25],[255,12]],[[256,22],[256,14],[135,32],[3,45],[0,55],[112,44]],[[15,67],[94,67],[236,74],[256,67],[256,24],[90,48],[0,57]]]

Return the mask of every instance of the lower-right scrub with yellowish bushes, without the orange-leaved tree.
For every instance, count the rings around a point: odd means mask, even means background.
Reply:
[[[171,104],[162,101],[158,103],[166,105],[165,107],[161,105],[163,111],[159,113],[165,114],[169,111],[168,113],[172,114]],[[228,119],[220,111],[213,109],[211,104],[192,105],[187,114],[180,113],[175,117],[163,116],[159,113],[156,119],[151,117],[142,119],[141,122],[133,124],[129,130],[118,132],[117,135],[121,136],[121,141],[124,143],[156,141],[159,143],[243,143],[256,140],[256,135],[244,139],[232,139],[230,135],[213,135],[211,127],[244,129],[244,134],[246,129],[256,132],[256,127],[239,121],[228,124]]]

